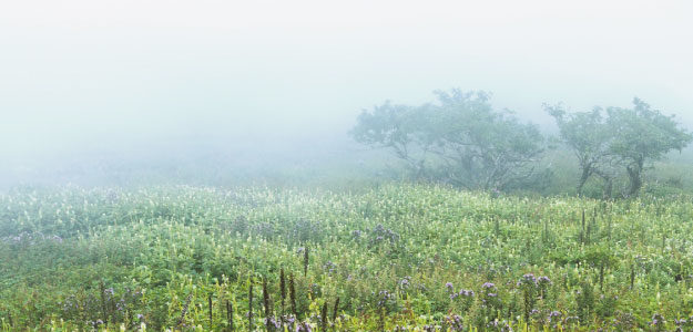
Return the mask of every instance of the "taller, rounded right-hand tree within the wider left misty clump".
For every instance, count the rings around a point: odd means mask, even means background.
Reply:
[[[543,153],[543,136],[532,124],[519,122],[509,111],[496,111],[481,92],[437,91],[429,106],[437,125],[431,146],[439,170],[456,185],[500,190],[533,174]]]

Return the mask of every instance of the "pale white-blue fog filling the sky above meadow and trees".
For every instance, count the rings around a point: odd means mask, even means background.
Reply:
[[[354,166],[363,108],[451,87],[546,128],[543,103],[634,96],[693,127],[691,17],[690,1],[6,1],[0,185]]]

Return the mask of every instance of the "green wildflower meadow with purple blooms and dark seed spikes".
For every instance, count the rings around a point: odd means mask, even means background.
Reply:
[[[691,331],[691,234],[689,196],[16,189],[0,196],[0,324]]]

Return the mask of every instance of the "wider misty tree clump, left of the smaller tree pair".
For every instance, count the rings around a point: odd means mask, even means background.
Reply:
[[[416,178],[469,189],[505,189],[533,175],[543,137],[532,124],[496,111],[482,92],[437,91],[437,103],[389,103],[364,111],[351,129],[359,143],[391,149]]]

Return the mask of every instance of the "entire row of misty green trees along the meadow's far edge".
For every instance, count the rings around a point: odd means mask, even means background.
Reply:
[[[485,92],[436,91],[434,103],[418,106],[386,102],[364,111],[350,131],[359,143],[380,147],[401,159],[414,179],[440,181],[467,189],[502,191],[533,186],[549,178],[542,157],[556,143],[577,157],[577,193],[592,177],[603,184],[603,197],[635,197],[643,173],[693,136],[673,115],[634,98],[631,108],[594,107],[568,112],[544,105],[558,124],[557,138],[512,112],[495,110]],[[623,188],[614,179],[626,178]]]

